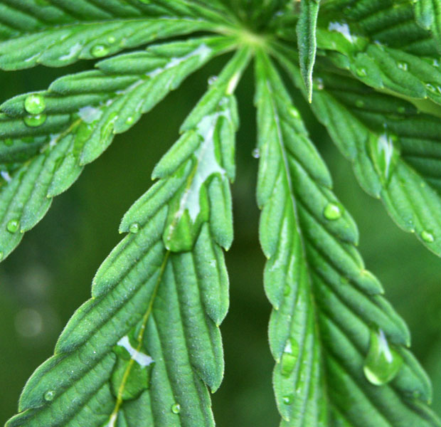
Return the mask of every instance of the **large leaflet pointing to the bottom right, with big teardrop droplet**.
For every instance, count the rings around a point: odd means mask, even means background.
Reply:
[[[408,328],[364,268],[354,221],[277,71],[265,53],[256,61],[257,201],[281,426],[440,426],[425,404],[427,376],[405,348]]]

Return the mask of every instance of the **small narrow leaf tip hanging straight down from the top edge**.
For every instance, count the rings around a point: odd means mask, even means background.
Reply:
[[[297,22],[297,46],[299,49],[300,70],[307,88],[308,100],[312,101],[312,70],[317,51],[316,28],[320,0],[302,0]]]

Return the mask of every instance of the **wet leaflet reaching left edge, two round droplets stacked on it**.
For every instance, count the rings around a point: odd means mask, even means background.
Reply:
[[[4,102],[0,259],[14,250],[23,233],[46,214],[53,196],[68,189],[115,134],[132,127],[184,78],[233,48],[233,43],[219,36],[194,38],[104,60],[97,64],[98,70],[66,75],[38,93],[37,99],[44,103],[38,115],[26,111],[27,100],[35,100],[36,94]],[[29,119],[41,124],[30,125]],[[11,228],[12,223],[17,226]]]

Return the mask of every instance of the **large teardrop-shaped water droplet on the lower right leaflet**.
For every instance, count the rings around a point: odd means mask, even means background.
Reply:
[[[371,384],[387,384],[400,370],[403,358],[389,346],[383,330],[371,332],[371,343],[364,362],[363,371]]]

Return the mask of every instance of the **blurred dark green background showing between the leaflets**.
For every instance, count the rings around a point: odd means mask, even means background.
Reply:
[[[208,77],[217,74],[223,63],[225,58],[219,58],[188,78],[132,130],[118,135],[0,264],[0,422],[16,412],[26,379],[51,356],[63,325],[90,297],[95,271],[121,238],[120,218],[151,185],[154,164],[176,140],[179,125],[203,94]],[[40,67],[0,73],[1,101],[45,89],[59,75],[91,66],[83,62],[67,70]],[[279,417],[271,389],[274,364],[267,346],[270,304],[262,289],[265,260],[257,241],[252,67],[238,97],[235,242],[226,254],[231,304],[221,328],[226,370],[213,406],[218,426],[268,427],[277,426]],[[381,203],[363,193],[302,97],[298,93],[294,97],[329,164],[336,194],[358,223],[367,268],[382,280],[386,296],[410,326],[413,351],[432,378],[433,404],[441,414],[441,260],[400,231]]]

